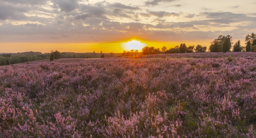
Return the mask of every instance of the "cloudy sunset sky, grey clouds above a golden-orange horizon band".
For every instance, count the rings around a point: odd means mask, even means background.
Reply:
[[[122,53],[256,33],[255,0],[0,0],[0,53]],[[245,44],[244,44],[245,45]]]

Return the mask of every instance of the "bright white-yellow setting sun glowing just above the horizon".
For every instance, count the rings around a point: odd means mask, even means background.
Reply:
[[[140,42],[140,41],[138,41],[138,40],[131,40],[131,41],[129,41],[129,42],[122,43],[121,46],[122,46],[122,48],[123,48],[124,50],[130,51],[130,50],[133,49],[133,50],[139,50],[139,51],[141,51],[142,48],[143,48],[144,46],[146,46],[146,44],[145,44],[145,43],[142,43],[142,42]]]

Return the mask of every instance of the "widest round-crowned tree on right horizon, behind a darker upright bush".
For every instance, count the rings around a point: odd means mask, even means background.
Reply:
[[[230,41],[230,44],[226,45],[226,47],[222,48],[224,41],[228,39]],[[230,35],[222,36],[220,35],[217,39],[214,39],[213,42],[211,42],[211,46],[209,47],[210,52],[223,52],[223,50],[227,50],[229,47],[231,48],[232,44],[232,37]],[[228,51],[230,50],[228,49]]]

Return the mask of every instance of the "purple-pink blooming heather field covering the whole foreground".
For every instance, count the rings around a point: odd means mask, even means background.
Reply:
[[[256,53],[0,67],[0,137],[256,137]]]

